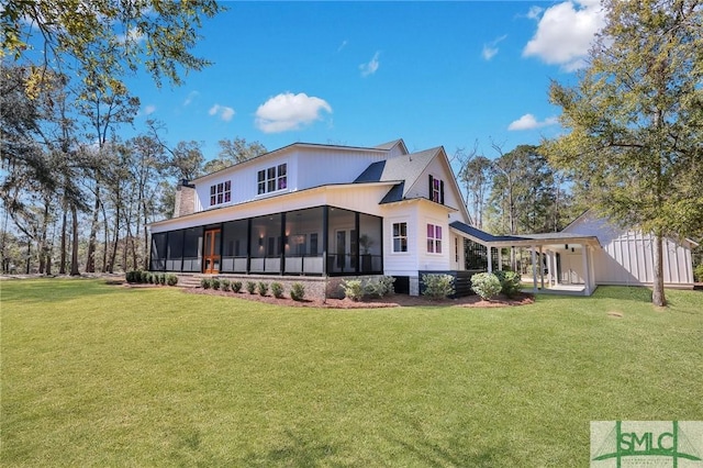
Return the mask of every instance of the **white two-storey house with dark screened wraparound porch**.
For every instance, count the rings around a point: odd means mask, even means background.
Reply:
[[[468,285],[470,225],[442,147],[410,153],[295,143],[178,187],[175,218],[150,224],[150,269],[233,276],[395,277]],[[468,288],[465,288],[468,289]]]

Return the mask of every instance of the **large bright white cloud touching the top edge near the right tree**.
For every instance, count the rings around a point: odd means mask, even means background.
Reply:
[[[549,7],[523,49],[523,57],[536,56],[567,71],[577,70],[585,66],[589,47],[604,25],[605,12],[599,0],[565,1]]]

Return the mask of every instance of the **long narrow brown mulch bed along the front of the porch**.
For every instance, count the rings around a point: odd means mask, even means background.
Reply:
[[[275,298],[269,296],[249,294],[248,292],[232,292],[202,288],[183,288],[183,292],[190,294],[208,294],[222,296],[228,298],[245,299],[248,301],[265,302],[281,307],[302,307],[302,308],[323,308],[323,309],[377,309],[377,308],[398,308],[398,307],[460,307],[460,308],[502,308],[509,305],[532,304],[535,298],[532,294],[521,293],[520,296],[507,299],[498,297],[491,301],[484,301],[478,296],[468,296],[457,299],[432,300],[422,296],[391,294],[383,298],[369,299],[365,301],[353,301],[350,299],[304,299],[303,301],[293,301],[288,297]]]

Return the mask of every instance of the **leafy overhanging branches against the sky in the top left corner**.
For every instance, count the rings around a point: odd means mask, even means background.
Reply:
[[[3,2],[0,58],[9,55],[15,62],[32,63],[34,78],[47,69],[70,66],[113,90],[123,87],[124,71],[136,71],[142,65],[157,85],[164,78],[180,85],[181,73],[210,64],[190,51],[200,38],[202,18],[223,10],[214,0]],[[29,80],[27,88],[37,89],[36,82]]]

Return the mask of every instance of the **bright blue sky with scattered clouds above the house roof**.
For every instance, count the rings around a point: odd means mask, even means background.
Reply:
[[[129,80],[166,140],[243,137],[495,157],[562,130],[550,79],[573,82],[603,25],[598,1],[225,2],[196,54],[213,65],[178,88]]]

